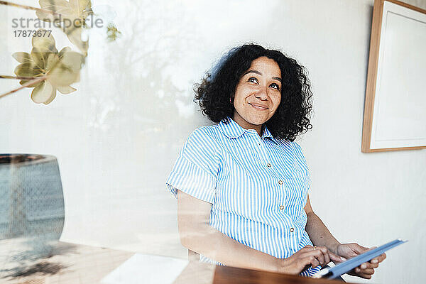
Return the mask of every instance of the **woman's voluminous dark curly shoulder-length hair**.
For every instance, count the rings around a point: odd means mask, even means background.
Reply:
[[[222,119],[229,123],[227,116],[234,116],[233,101],[236,85],[251,62],[265,56],[278,63],[282,77],[281,102],[275,114],[266,121],[274,138],[294,141],[297,134],[312,129],[310,111],[312,91],[305,67],[278,50],[268,50],[261,45],[245,44],[232,48],[217,65],[207,72],[200,84],[194,84],[195,99],[202,114],[216,123]]]

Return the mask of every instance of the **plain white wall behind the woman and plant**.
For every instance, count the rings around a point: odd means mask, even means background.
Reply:
[[[426,9],[426,0],[407,2]],[[190,131],[209,124],[192,84],[225,50],[256,42],[296,58],[312,80],[314,127],[298,142],[315,212],[341,242],[409,240],[368,282],[422,282],[426,151],[361,153],[373,0],[93,3],[116,12],[105,17],[122,36],[108,43],[105,28],[90,31],[77,92],[48,106],[31,102],[29,89],[0,99],[0,152],[58,157],[63,241],[186,257],[164,182]],[[20,16],[34,14],[0,7],[0,74],[13,75],[11,53],[31,49],[13,37]],[[58,49],[70,45],[53,35]],[[16,86],[0,80],[1,92]]]

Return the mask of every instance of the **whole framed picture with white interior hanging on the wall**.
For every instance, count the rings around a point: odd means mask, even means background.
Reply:
[[[426,10],[375,0],[361,151],[426,148]]]

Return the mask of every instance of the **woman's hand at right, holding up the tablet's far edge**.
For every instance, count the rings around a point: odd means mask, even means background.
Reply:
[[[373,248],[366,248],[364,246],[360,246],[356,243],[351,244],[339,244],[337,246],[337,254],[339,256],[343,256],[346,259],[353,258],[354,256],[358,256],[361,253],[364,253]],[[374,268],[378,267],[378,263],[381,263],[386,258],[386,253],[377,256],[376,258],[371,259],[371,261],[362,263],[361,266],[354,268],[349,275],[358,276],[361,278],[371,279],[371,275],[374,274]]]

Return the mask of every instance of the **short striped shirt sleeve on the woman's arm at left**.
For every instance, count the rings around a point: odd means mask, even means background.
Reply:
[[[207,126],[192,131],[165,182],[177,197],[177,190],[199,200],[214,203],[219,169],[217,144]]]

